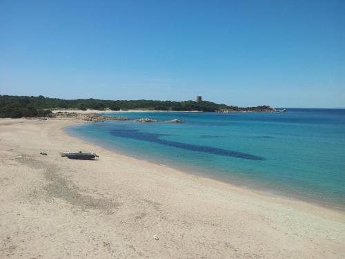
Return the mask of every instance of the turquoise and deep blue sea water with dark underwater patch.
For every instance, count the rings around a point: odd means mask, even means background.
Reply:
[[[343,109],[111,115],[186,123],[110,121],[66,131],[141,160],[345,209]]]

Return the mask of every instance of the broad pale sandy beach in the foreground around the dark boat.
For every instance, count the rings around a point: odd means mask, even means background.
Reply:
[[[343,213],[63,133],[79,123],[0,119],[0,258],[345,258]],[[79,150],[99,160],[59,155]]]

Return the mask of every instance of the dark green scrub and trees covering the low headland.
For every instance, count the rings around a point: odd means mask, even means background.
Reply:
[[[228,106],[226,104],[215,104],[214,102],[172,102],[172,101],[153,101],[153,100],[135,100],[135,101],[111,101],[100,99],[74,99],[65,100],[57,98],[48,98],[40,95],[34,96],[12,96],[0,95],[0,117],[34,117],[46,116],[52,109],[94,109],[104,111],[121,110],[155,110],[155,111],[272,111],[270,106],[257,106],[248,108],[239,108],[237,106]]]

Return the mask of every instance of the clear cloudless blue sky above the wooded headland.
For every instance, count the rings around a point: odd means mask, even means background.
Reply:
[[[345,107],[345,1],[0,0],[0,95]]]

